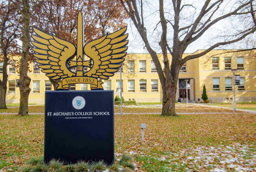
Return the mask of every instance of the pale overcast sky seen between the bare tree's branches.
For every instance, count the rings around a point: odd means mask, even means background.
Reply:
[[[188,26],[192,24],[197,17],[198,13],[200,12],[203,4],[205,1],[203,0],[183,0],[182,4],[193,4],[193,7],[188,6],[183,8],[181,17],[186,18],[180,21],[180,28],[184,26]],[[212,0],[212,2],[215,2],[215,0]],[[212,17],[213,19],[223,15],[227,14],[228,12],[234,10],[235,7],[237,7],[238,4],[236,4],[236,0],[225,0],[221,5],[216,14]],[[159,2],[157,0],[148,0],[143,5],[143,14],[145,16],[144,23],[145,27],[147,29],[147,37],[150,42],[150,45],[152,45],[152,48],[157,51],[158,53],[161,53],[160,46],[158,45],[158,42],[160,41],[161,37],[161,25],[158,24],[158,27],[155,29],[157,23],[159,22]],[[169,2],[169,0],[166,0],[164,3],[164,11],[166,12],[164,15],[166,19],[172,19],[173,15],[173,9],[172,4]],[[139,12],[140,13],[140,12]],[[194,15],[194,17],[193,17]],[[133,22],[128,19],[128,33],[129,33],[129,49],[128,52],[130,53],[148,53],[147,50],[144,48],[144,43],[141,39],[141,36],[138,34]],[[210,45],[227,40],[228,35],[233,35],[237,33],[237,31],[241,31],[244,28],[248,28],[252,26],[252,20],[251,19],[241,19],[238,16],[236,17],[229,17],[227,19],[224,19],[222,21],[219,21],[215,25],[213,25],[208,31],[205,32],[205,34],[200,37],[197,41],[190,44],[187,49],[186,53],[193,53],[198,49],[207,49]],[[171,46],[172,45],[172,36],[173,32],[171,29],[171,25],[168,25],[168,43]],[[155,29],[155,30],[154,30]],[[224,47],[220,47],[220,49],[246,49],[251,48],[252,43],[248,44],[247,40],[256,40],[256,36],[251,35],[250,37],[247,37],[246,40],[237,42],[235,44],[225,45]],[[255,41],[254,41],[255,42]]]

